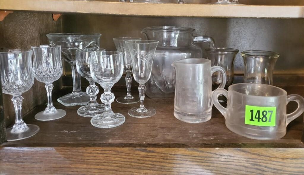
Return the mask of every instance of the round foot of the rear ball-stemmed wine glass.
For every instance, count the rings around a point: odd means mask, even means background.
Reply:
[[[103,104],[88,104],[86,106],[81,106],[77,110],[77,114],[82,117],[94,117],[95,115],[102,114],[105,109]]]

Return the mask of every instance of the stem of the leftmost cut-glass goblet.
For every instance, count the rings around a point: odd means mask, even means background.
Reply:
[[[28,129],[26,124],[22,119],[22,101],[23,97],[21,95],[14,95],[12,101],[15,107],[16,120],[13,126],[12,132],[23,132]]]

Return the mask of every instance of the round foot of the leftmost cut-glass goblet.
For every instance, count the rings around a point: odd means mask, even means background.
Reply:
[[[32,137],[33,135],[37,134],[40,130],[39,126],[34,124],[28,124],[28,129],[23,132],[12,132],[12,127],[6,129],[6,137],[7,141],[16,141],[16,140],[22,140],[29,137]]]

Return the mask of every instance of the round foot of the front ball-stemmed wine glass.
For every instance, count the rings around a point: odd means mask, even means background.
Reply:
[[[103,113],[94,116],[91,124],[99,128],[117,127],[126,121],[126,117],[119,113]]]

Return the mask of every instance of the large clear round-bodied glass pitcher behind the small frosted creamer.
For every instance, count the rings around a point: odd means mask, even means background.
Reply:
[[[146,83],[146,94],[150,98],[173,98],[175,72],[171,64],[184,58],[202,58],[202,49],[194,42],[208,42],[214,46],[210,36],[193,36],[194,29],[173,26],[144,28],[141,33],[149,40],[159,41],[153,60],[150,80]]]

